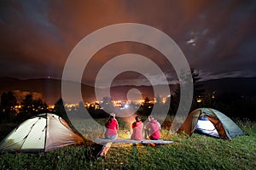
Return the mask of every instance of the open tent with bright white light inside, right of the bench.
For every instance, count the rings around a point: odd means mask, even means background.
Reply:
[[[194,131],[222,139],[232,139],[244,134],[228,116],[210,108],[200,108],[190,112],[178,130],[179,133],[185,132],[189,136]]]

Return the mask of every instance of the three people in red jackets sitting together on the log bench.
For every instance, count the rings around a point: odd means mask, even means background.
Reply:
[[[118,137],[119,123],[115,119],[114,113],[110,114],[105,127],[107,128],[106,139],[116,139]],[[135,122],[131,123],[131,139],[142,140],[148,138],[152,140],[160,139],[160,123],[154,119],[154,116],[148,116],[148,124],[144,127],[141,118],[136,116]]]

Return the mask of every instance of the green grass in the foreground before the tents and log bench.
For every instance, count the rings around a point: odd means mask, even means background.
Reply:
[[[47,153],[4,153],[0,169],[255,169],[256,123],[237,121],[248,135],[215,139],[194,133],[168,136],[173,144],[112,147],[106,159],[96,160],[99,145],[67,146]]]

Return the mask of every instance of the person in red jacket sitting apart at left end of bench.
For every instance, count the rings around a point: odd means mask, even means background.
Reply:
[[[106,139],[116,139],[118,136],[117,131],[119,130],[119,123],[115,119],[115,114],[111,113],[108,121],[105,123],[105,127],[107,128],[107,131],[105,133]]]

